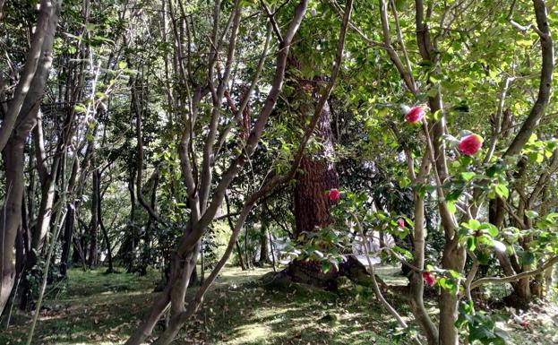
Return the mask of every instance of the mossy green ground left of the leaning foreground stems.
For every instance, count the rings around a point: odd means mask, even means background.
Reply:
[[[122,271],[122,270],[121,270]],[[129,336],[141,310],[153,298],[158,272],[104,274],[105,269],[68,272],[64,291],[47,297],[47,315],[39,317],[33,344],[119,344]],[[0,344],[27,340],[31,313],[17,311],[14,326],[0,334]]]

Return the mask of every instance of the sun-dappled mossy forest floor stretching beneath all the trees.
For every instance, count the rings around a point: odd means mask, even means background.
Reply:
[[[390,284],[402,284],[397,269],[383,267],[379,273]],[[51,293],[39,319],[33,344],[122,344],[140,322],[156,294],[159,272],[147,276],[104,270],[73,269],[69,279]],[[313,289],[278,291],[263,289],[260,278],[270,268],[242,272],[226,267],[210,289],[193,322],[176,344],[222,345],[319,345],[391,344],[396,327],[392,317],[363,290],[358,294],[335,294]],[[189,296],[194,289],[190,289]],[[393,299],[393,298],[391,298]],[[408,309],[398,305],[403,314]],[[558,307],[551,304],[522,316],[520,326],[510,314],[503,328],[511,332],[511,344],[558,344]],[[435,314],[434,308],[431,309]],[[504,315],[506,316],[506,315]],[[435,317],[435,315],[434,315]],[[27,340],[31,315],[13,313],[12,325],[0,331],[0,344]],[[162,330],[159,324],[156,332]],[[4,325],[3,325],[4,327]]]

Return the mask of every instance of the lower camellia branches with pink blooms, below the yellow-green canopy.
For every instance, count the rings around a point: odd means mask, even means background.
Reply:
[[[374,264],[370,260],[371,240],[379,242],[378,252],[383,254],[383,257],[391,258],[410,268],[412,273],[409,276],[408,285],[409,306],[415,316],[416,325],[419,326],[418,328],[428,343],[438,343],[439,334],[441,334],[438,330],[442,327],[451,327],[455,330],[456,341],[459,339],[459,329],[467,335],[468,341],[504,344],[508,339],[508,334],[496,325],[497,317],[493,318],[485,311],[476,310],[471,291],[481,289],[486,283],[530,280],[537,274],[552,269],[552,265],[558,262],[558,256],[556,256],[555,235],[549,229],[555,229],[558,213],[549,212],[539,215],[535,211],[528,211],[528,219],[534,222],[534,228],[530,231],[515,227],[498,229],[486,220],[483,212],[477,212],[474,217],[470,210],[481,198],[490,201],[495,198],[509,197],[510,192],[502,168],[498,168],[502,164],[501,160],[482,163],[483,155],[486,154],[486,149],[483,148],[485,141],[478,134],[467,130],[460,130],[456,136],[444,134],[442,138],[442,142],[446,145],[444,153],[451,159],[443,162],[447,164],[448,173],[442,179],[440,173],[433,168],[437,162],[431,129],[431,124],[435,121],[434,114],[421,105],[402,108],[407,112],[403,116],[405,122],[400,125],[414,128],[415,135],[419,136],[423,142],[420,156],[404,150],[408,177],[412,181],[414,190],[414,214],[408,217],[390,211],[376,210],[371,203],[370,195],[365,191],[339,192],[338,189],[332,189],[329,197],[332,202],[336,203],[336,207],[332,211],[336,223],[331,227],[331,231],[345,237],[344,240],[338,240],[339,246],[342,246],[343,243],[361,242],[362,247],[365,248],[365,254],[367,254],[368,268],[372,273],[376,297],[398,320],[401,330],[415,342],[420,341],[416,333],[412,332],[414,327],[406,323],[396,308],[382,296],[382,289],[374,274]],[[534,146],[541,146],[536,140],[530,142],[533,142]],[[546,145],[547,143],[544,146]],[[551,147],[555,150],[555,141]],[[480,189],[481,187],[482,189]],[[456,188],[459,188],[459,194],[455,192]],[[477,192],[478,189],[480,192]],[[445,250],[434,262],[425,260],[425,247],[429,239],[425,231],[425,197],[427,195],[434,199],[438,206],[439,226],[452,229],[451,236],[446,236],[445,245],[446,248],[451,247],[452,252]],[[400,246],[385,246],[379,238],[381,236],[375,234],[389,234],[401,239],[410,236],[412,248],[408,250],[408,248]],[[537,260],[537,269],[502,278],[477,278],[479,266],[487,264],[491,258],[520,252],[522,250],[521,241],[525,237],[533,237],[537,240],[531,241],[530,259],[524,257],[522,262],[532,264]],[[337,253],[337,251],[333,252],[333,254]],[[453,266],[449,264],[452,256],[459,259],[457,262],[459,264]],[[334,264],[338,259],[331,253],[319,255],[317,258]],[[332,258],[333,260],[331,260]],[[466,261],[470,262],[467,269]],[[326,263],[325,267],[329,268],[330,263]],[[440,321],[435,323],[432,315],[426,312],[425,285],[434,287],[439,292],[438,308],[440,310],[443,311],[449,302],[455,303],[458,309],[456,313],[451,313],[451,323],[448,323],[448,319],[444,319],[442,316]],[[383,284],[383,286],[386,285]]]

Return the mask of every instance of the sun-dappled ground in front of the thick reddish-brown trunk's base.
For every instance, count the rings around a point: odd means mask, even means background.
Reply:
[[[176,344],[392,343],[395,324],[369,300],[319,291],[272,291],[255,282],[212,295]]]

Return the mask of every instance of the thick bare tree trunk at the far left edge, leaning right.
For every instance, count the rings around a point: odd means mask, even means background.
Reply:
[[[4,109],[0,127],[0,148],[4,153],[8,194],[5,197],[0,226],[2,229],[2,276],[0,311],[10,296],[15,278],[13,246],[21,224],[23,199],[23,148],[39,118],[48,72],[52,64],[52,47],[58,22],[59,3],[41,1],[38,24],[33,34],[29,57],[13,99]]]

